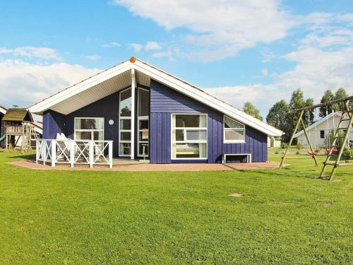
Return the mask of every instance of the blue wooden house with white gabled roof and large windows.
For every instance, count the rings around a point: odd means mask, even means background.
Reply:
[[[222,154],[268,159],[268,136],[282,131],[155,66],[130,60],[30,107],[43,139],[113,141],[116,158],[150,163],[220,163]],[[246,155],[231,156],[237,162]]]

